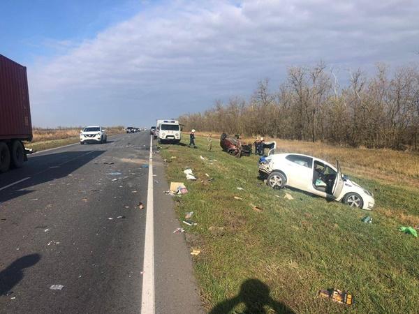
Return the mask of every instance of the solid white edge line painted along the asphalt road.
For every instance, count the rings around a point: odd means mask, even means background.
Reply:
[[[141,313],[154,314],[154,207],[153,137],[150,136],[149,178],[145,219],[144,265],[142,267]]]

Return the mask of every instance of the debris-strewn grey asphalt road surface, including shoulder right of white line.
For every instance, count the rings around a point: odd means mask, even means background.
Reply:
[[[0,313],[141,313],[149,144],[147,132],[115,135],[0,174]],[[164,165],[153,160],[156,313],[200,313]]]

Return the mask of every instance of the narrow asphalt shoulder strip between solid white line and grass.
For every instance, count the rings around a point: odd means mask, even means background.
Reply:
[[[154,262],[156,313],[205,313],[193,264],[182,227],[175,214],[175,203],[168,190],[165,167],[159,154],[154,154]]]

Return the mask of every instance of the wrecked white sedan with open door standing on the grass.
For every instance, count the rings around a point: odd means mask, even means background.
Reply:
[[[371,210],[374,195],[355,184],[336,167],[324,160],[302,154],[273,154],[259,160],[259,173],[272,188],[289,186],[351,207]]]

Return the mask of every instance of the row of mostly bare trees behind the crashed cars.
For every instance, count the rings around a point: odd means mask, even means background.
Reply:
[[[348,71],[341,87],[325,63],[288,68],[276,91],[258,82],[249,100],[217,100],[210,110],[179,117],[186,129],[324,141],[352,147],[418,150],[419,70]]]

